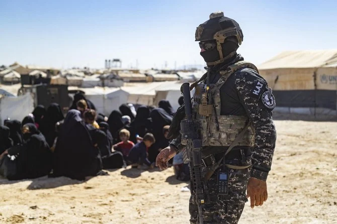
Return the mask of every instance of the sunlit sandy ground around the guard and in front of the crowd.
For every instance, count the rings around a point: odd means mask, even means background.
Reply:
[[[337,123],[276,121],[269,199],[239,223],[337,223]],[[0,223],[189,223],[173,169],[119,169],[85,182],[0,180]]]

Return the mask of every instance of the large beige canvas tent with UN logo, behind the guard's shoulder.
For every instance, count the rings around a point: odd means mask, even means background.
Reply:
[[[286,51],[258,66],[276,110],[336,116],[337,50]]]

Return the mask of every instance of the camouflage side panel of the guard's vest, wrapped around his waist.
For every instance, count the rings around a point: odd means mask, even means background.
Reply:
[[[218,116],[219,131],[216,129],[215,116],[210,117],[207,131],[207,142],[209,146],[229,146],[236,136],[244,129],[248,122],[245,116]],[[254,132],[249,126],[243,137],[236,146],[254,146]]]

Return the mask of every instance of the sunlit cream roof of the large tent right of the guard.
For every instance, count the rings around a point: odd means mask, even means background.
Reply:
[[[259,70],[276,68],[317,68],[337,62],[337,49],[284,51],[258,66]]]

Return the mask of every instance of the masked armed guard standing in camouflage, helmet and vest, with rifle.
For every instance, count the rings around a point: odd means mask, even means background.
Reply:
[[[247,197],[252,208],[268,197],[275,97],[257,67],[236,53],[243,41],[236,21],[212,13],[197,27],[195,40],[207,73],[183,84],[185,104],[173,119],[172,142],[156,164],[165,169],[170,158],[185,150],[191,167],[190,222],[237,223]]]

